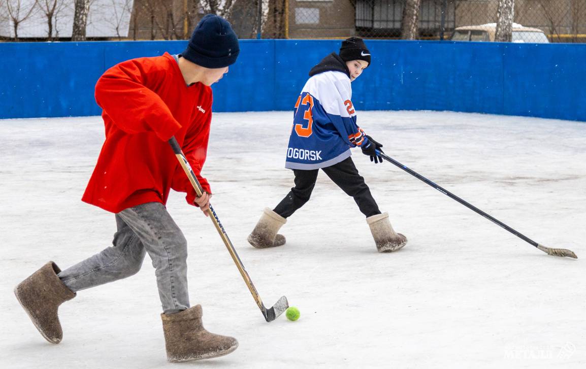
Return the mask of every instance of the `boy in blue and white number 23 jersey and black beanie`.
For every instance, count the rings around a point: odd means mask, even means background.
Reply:
[[[285,244],[285,237],[277,232],[287,217],[309,200],[319,169],[354,198],[366,216],[378,251],[396,251],[407,243],[404,235],[393,230],[389,214],[381,214],[369,187],[350,158],[350,148],[358,146],[371,161],[382,161],[376,150],[382,152],[383,145],[356,125],[356,111],[350,100],[350,83],[369,64],[370,52],[363,40],[350,37],[342,42],[339,54],[329,54],[309,71],[310,78],[295,104],[285,160],[285,168],[292,169],[295,175],[295,187],[275,209],[264,209],[248,236],[248,242],[254,247]]]

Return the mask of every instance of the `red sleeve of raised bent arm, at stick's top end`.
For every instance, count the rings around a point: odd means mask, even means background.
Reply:
[[[149,89],[164,77],[149,58],[122,62],[100,77],[96,83],[96,101],[122,131],[154,132],[167,141],[181,125],[161,97]]]

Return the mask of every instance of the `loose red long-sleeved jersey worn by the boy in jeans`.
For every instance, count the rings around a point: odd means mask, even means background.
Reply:
[[[118,213],[148,202],[166,204],[171,189],[195,190],[167,142],[175,136],[197,179],[206,160],[212,89],[186,86],[173,56],[143,57],[111,67],[96,84],[105,142],[81,200]]]

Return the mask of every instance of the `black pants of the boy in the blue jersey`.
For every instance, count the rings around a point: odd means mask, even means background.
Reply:
[[[352,158],[347,158],[335,165],[322,168],[322,170],[333,183],[338,184],[343,192],[354,198],[362,214],[366,217],[380,214],[379,206],[370,194],[370,189],[364,183],[364,178],[358,174],[358,169],[356,169]],[[292,187],[273,211],[281,217],[287,218],[295,213],[295,210],[302,207],[314,190],[318,172],[319,169],[293,169],[295,187]]]

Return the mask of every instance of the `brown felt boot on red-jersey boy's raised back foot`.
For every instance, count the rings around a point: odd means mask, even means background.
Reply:
[[[47,341],[54,344],[63,339],[57,309],[63,302],[76,296],[57,276],[60,271],[54,262],[49,261],[14,289],[18,302],[36,329]]]

